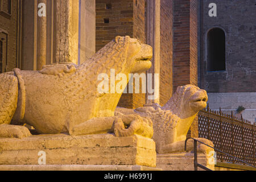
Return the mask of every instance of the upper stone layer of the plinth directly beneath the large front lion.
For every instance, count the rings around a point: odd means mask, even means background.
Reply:
[[[115,137],[112,134],[70,136],[65,134],[32,135],[28,138],[0,138],[0,151],[5,150],[43,150],[61,148],[127,147],[136,146],[155,149],[152,139],[134,135]]]

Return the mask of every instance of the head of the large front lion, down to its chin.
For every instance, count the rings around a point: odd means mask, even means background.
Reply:
[[[85,61],[80,69],[90,64],[98,65],[98,73],[141,73],[151,67],[152,47],[142,44],[130,36],[117,36],[106,44],[92,58]],[[93,70],[95,72],[95,70]]]

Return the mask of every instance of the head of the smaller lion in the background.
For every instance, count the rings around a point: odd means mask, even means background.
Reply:
[[[207,92],[195,85],[179,86],[174,96],[162,107],[171,110],[180,118],[188,118],[197,114],[207,106]]]

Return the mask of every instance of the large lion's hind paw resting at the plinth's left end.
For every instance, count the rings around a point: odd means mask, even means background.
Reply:
[[[0,138],[26,138],[30,137],[31,133],[24,126],[16,125],[0,125]]]

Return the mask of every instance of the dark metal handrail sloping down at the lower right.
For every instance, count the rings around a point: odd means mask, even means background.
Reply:
[[[187,141],[188,141],[188,139],[193,139],[193,140],[194,140],[194,167],[195,167],[195,171],[197,171],[197,167],[203,168],[203,169],[208,170],[208,171],[212,171],[211,169],[209,169],[209,168],[207,168],[207,167],[205,167],[205,166],[203,166],[203,165],[197,163],[197,142],[202,143],[202,144],[204,144],[205,146],[208,146],[208,147],[210,147],[210,148],[213,148],[214,150],[216,150],[216,151],[218,151],[218,152],[221,152],[221,153],[223,153],[223,154],[226,154],[226,155],[230,156],[231,158],[240,160],[242,163],[245,163],[245,164],[247,164],[248,166],[251,166],[251,167],[256,168],[255,166],[253,166],[253,165],[251,165],[251,164],[249,164],[249,163],[246,163],[246,162],[244,162],[244,161],[241,160],[241,159],[238,159],[238,158],[236,158],[236,157],[234,157],[234,156],[232,156],[232,155],[230,155],[230,154],[227,154],[226,152],[223,152],[223,151],[221,151],[221,150],[218,150],[217,148],[214,148],[214,147],[212,147],[212,146],[209,146],[208,144],[205,144],[204,142],[201,142],[201,141],[199,141],[199,140],[197,140],[197,139],[195,139],[195,138],[187,138],[187,139],[185,140],[185,151],[187,151]]]

